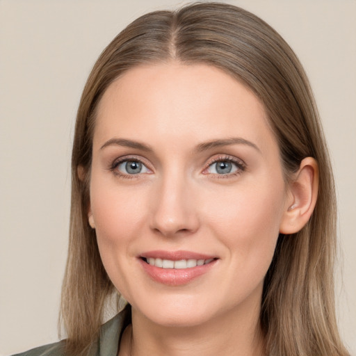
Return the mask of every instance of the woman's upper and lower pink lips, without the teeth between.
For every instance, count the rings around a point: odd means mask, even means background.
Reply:
[[[160,259],[170,259],[172,261],[179,261],[180,259],[213,259],[213,256],[207,254],[199,254],[195,252],[188,251],[150,251],[145,252],[138,258],[139,263],[143,267],[143,270],[151,277],[155,282],[165,284],[168,286],[181,286],[188,284],[195,278],[204,275],[209,272],[213,266],[216,265],[217,259],[214,259],[209,264],[204,264],[202,266],[196,266],[193,268],[160,268],[156,266],[151,266],[142,258],[160,258]],[[216,257],[215,257],[216,258]]]

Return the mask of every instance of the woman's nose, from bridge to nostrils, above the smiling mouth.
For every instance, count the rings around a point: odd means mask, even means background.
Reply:
[[[169,175],[157,184],[150,220],[151,229],[167,237],[187,236],[199,229],[195,192],[184,177]]]

